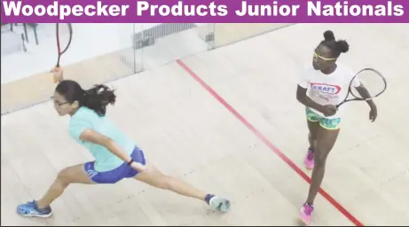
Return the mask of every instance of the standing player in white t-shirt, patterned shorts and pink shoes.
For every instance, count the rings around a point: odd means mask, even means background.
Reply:
[[[349,51],[346,41],[335,41],[334,33],[326,31],[325,40],[315,49],[312,66],[307,68],[300,77],[297,88],[297,99],[306,109],[310,147],[305,157],[306,168],[313,169],[311,186],[307,201],[301,209],[301,218],[304,223],[311,222],[313,202],[319,192],[324,178],[326,157],[334,147],[340,131],[340,122],[347,105],[339,109],[348,94],[350,82],[354,72],[350,67],[337,62],[341,53]],[[364,97],[369,93],[358,80],[351,85]],[[372,100],[367,101],[371,110],[369,119],[374,121],[377,109]]]

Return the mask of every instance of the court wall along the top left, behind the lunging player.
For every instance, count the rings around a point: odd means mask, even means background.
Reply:
[[[75,24],[61,66],[66,79],[87,89],[289,25]],[[39,45],[30,42],[27,52],[2,56],[2,114],[52,96],[56,85],[49,71],[57,59],[55,30],[53,24],[40,26]]]

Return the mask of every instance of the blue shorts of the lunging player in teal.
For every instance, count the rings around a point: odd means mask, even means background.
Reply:
[[[137,146],[130,154],[130,157],[132,157],[135,162],[143,165],[146,164],[144,152]],[[106,172],[98,172],[95,170],[94,163],[95,161],[87,162],[84,164],[83,168],[87,175],[90,176],[90,180],[97,184],[115,184],[123,178],[131,178],[138,175],[138,170],[131,168],[126,162],[123,162],[118,168]]]

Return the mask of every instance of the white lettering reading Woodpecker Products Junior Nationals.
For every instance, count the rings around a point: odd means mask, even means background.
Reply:
[[[22,0],[17,1],[2,1],[5,16],[43,16],[49,15],[59,17],[59,20],[64,20],[68,16],[125,16],[130,5],[103,4],[97,1],[93,5],[66,5],[59,4],[58,1],[53,1],[52,4],[22,4]],[[348,4],[347,1],[337,2],[336,4],[322,4],[321,1],[308,1],[307,13],[309,16],[396,16],[401,17],[405,14],[404,7],[401,4],[393,4],[388,1],[386,4]],[[278,1],[273,1],[272,4],[250,4],[246,0],[241,2],[240,10],[235,11],[239,16],[295,16],[300,5],[279,4]],[[203,4],[185,4],[183,1],[178,1],[174,5],[166,4],[149,4],[145,1],[137,2],[137,16],[142,16],[143,13],[150,12],[152,16],[226,16],[227,6],[224,4],[215,4],[214,2]]]

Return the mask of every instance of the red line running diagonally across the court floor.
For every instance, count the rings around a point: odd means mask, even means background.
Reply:
[[[235,117],[237,117],[241,121],[241,123],[243,123],[248,129],[250,129],[254,134],[256,134],[256,137],[262,140],[264,145],[267,145],[271,149],[272,152],[276,153],[281,160],[284,160],[287,163],[287,165],[290,168],[292,168],[299,176],[301,176],[306,182],[308,182],[308,184],[311,184],[310,176],[307,176],[303,172],[303,170],[301,170],[301,168],[298,168],[295,165],[295,163],[292,160],[288,159],[288,157],[284,153],[281,153],[281,151],[279,151],[279,149],[275,145],[273,145],[270,142],[270,140],[264,137],[263,134],[258,129],[256,129],[253,125],[251,125],[243,116],[241,116],[232,106],[230,106],[222,97],[220,97],[216,93],[215,90],[213,90],[210,86],[208,86],[206,82],[203,82],[201,80],[201,77],[199,77],[199,75],[195,74],[192,69],[187,67],[182,60],[178,59],[177,64],[183,69],[185,69],[185,71],[188,74],[190,74],[196,82],[199,82],[205,90],[208,90],[208,92],[214,98],[216,98],[217,101],[219,101],[224,107],[226,107]],[[324,191],[322,188],[319,189],[319,193],[326,200],[328,200],[328,202],[330,202],[336,209],[338,209],[342,213],[342,215],[348,218],[350,222],[354,223],[356,226],[364,226],[361,222],[358,221],[358,219],[354,215],[351,215],[350,212],[348,212],[344,207],[342,207],[341,204],[339,204],[336,200],[334,200],[334,198],[331,195],[329,195],[326,191]]]

